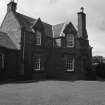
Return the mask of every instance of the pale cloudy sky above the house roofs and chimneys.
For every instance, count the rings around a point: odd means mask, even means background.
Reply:
[[[83,6],[86,13],[88,38],[93,55],[105,57],[105,0],[15,0],[17,11],[49,24],[71,21],[77,26],[77,12]],[[0,1],[0,23],[10,0]]]

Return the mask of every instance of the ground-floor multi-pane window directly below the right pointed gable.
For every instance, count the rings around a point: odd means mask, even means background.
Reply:
[[[74,58],[73,57],[66,58],[66,71],[74,71]]]

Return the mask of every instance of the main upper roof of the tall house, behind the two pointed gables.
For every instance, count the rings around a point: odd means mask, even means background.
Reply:
[[[32,29],[33,25],[35,25],[37,23],[37,21],[39,20],[39,19],[34,19],[34,18],[28,17],[26,15],[20,14],[18,12],[15,12],[15,16],[16,16],[17,20],[19,21],[20,25],[22,27],[24,27],[27,31],[30,31],[30,32],[33,31],[33,29]],[[43,25],[46,36],[51,37],[51,38],[58,38],[58,37],[64,36],[63,31],[64,31],[65,27],[69,24],[61,23],[61,24],[57,24],[57,25],[50,25],[48,23],[42,22],[42,25]],[[71,26],[72,26],[71,28],[76,31],[76,29],[72,23],[71,23]]]

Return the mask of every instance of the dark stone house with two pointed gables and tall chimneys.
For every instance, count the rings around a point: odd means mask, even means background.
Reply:
[[[84,79],[91,69],[92,48],[83,8],[72,22],[50,25],[16,11],[7,4],[0,27],[1,78]]]

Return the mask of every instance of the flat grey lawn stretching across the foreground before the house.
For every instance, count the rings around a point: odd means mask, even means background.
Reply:
[[[0,105],[105,105],[105,82],[2,84]]]

